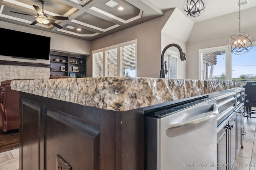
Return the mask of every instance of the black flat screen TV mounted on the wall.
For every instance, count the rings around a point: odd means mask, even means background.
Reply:
[[[50,37],[0,28],[0,55],[24,59],[50,58]]]

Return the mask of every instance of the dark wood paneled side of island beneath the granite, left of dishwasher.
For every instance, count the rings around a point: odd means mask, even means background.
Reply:
[[[20,92],[20,170],[143,170],[143,109],[110,111]],[[68,167],[64,167],[68,170]],[[60,169],[60,168],[59,168]]]

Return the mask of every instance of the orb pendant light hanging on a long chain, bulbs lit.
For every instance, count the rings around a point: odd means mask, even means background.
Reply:
[[[232,35],[228,40],[228,49],[232,54],[241,55],[252,49],[253,37],[248,33],[240,32],[240,0],[239,0],[239,33]]]

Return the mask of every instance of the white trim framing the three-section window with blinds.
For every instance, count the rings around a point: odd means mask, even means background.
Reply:
[[[118,73],[117,74],[118,74],[118,76],[120,76],[120,70],[121,70],[121,68],[120,68],[120,58],[121,58],[121,56],[120,56],[120,47],[123,47],[123,46],[126,46],[126,45],[132,45],[132,44],[135,44],[135,48],[136,48],[135,49],[135,55],[136,55],[136,57],[135,57],[136,66],[135,67],[136,67],[136,77],[137,77],[137,74],[138,74],[138,70],[137,70],[137,58],[138,58],[137,57],[137,39],[92,51],[92,56],[93,56],[94,53],[103,52],[103,77],[106,77],[106,71],[105,71],[106,70],[105,69],[105,67],[106,67],[105,56],[106,55],[105,55],[105,51],[117,48],[117,58],[118,58],[118,61],[117,61],[118,62],[118,68],[117,68]],[[93,73],[93,57],[92,57],[92,73]]]

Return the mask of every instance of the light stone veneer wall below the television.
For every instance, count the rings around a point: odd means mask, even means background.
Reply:
[[[50,68],[36,66],[0,65],[0,82],[11,79],[48,79]]]

